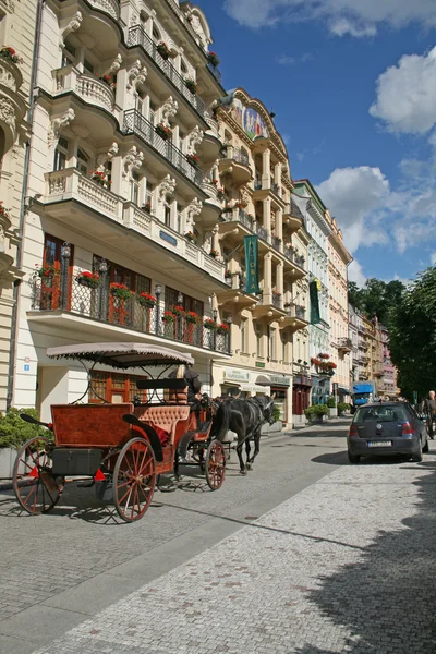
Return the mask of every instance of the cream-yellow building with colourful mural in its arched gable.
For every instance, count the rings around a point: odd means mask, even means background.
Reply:
[[[284,143],[263,102],[238,88],[216,114],[225,150],[213,173],[225,220],[214,249],[226,262],[229,284],[217,292],[216,307],[231,320],[233,355],[215,363],[214,392],[274,392],[291,424],[293,360],[308,362],[308,235],[291,199]],[[258,293],[247,283],[250,237],[257,237]]]

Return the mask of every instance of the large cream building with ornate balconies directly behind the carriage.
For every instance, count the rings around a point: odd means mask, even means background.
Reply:
[[[211,253],[221,204],[210,172],[222,144],[210,108],[225,90],[210,44],[205,16],[186,2],[44,3],[14,405],[36,405],[46,420],[50,403],[86,389],[83,370],[46,358],[50,346],[175,347],[192,352],[205,391],[213,361],[230,360],[226,326],[204,327],[213,298],[229,289]],[[199,323],[165,322],[175,305]],[[132,376],[101,367],[94,385],[109,401],[136,392]]]

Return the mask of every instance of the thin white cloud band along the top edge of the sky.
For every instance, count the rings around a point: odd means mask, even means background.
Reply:
[[[225,9],[247,27],[315,19],[327,21],[337,36],[374,36],[380,23],[396,28],[412,22],[436,26],[434,0],[225,0]]]

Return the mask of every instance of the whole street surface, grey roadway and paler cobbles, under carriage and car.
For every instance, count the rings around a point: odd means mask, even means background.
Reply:
[[[351,467],[346,431],[263,441],[134,525],[87,489],[37,518],[3,494],[0,652],[433,654],[436,448]]]

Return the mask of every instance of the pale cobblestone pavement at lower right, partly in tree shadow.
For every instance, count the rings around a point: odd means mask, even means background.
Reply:
[[[434,654],[435,535],[436,451],[343,465],[38,654]]]

